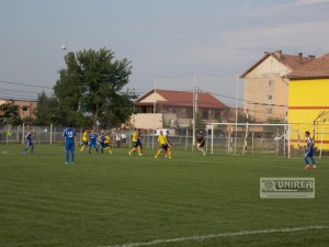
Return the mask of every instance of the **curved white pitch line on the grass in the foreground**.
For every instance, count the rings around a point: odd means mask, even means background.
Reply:
[[[190,242],[190,240],[204,240],[209,238],[219,238],[219,237],[235,237],[235,236],[248,236],[257,234],[272,234],[272,233],[293,233],[302,232],[309,229],[326,229],[328,226],[306,226],[306,227],[295,227],[295,228],[282,228],[282,229],[258,229],[258,231],[242,231],[236,233],[222,233],[222,234],[209,234],[209,235],[194,235],[189,237],[178,237],[178,238],[168,238],[168,239],[156,239],[152,242],[139,242],[139,243],[129,243],[123,245],[113,245],[113,246],[100,246],[100,247],[139,247],[139,246],[154,246],[159,244],[168,243],[178,243],[178,242]]]

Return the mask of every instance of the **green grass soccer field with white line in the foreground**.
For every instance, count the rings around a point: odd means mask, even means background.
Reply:
[[[22,150],[0,146],[3,247],[329,246],[328,159]],[[260,199],[261,177],[313,177],[316,198]]]

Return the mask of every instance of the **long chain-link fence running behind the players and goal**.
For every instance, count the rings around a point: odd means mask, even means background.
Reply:
[[[32,139],[36,145],[57,144],[63,142],[63,126],[5,126],[0,128],[0,145],[23,144],[25,135],[32,131]],[[77,127],[77,139],[81,143],[84,127]],[[102,130],[110,134],[113,146],[131,148],[133,130]],[[271,155],[283,157],[300,157],[306,146],[305,131],[309,131],[315,139],[315,155],[329,155],[329,125],[311,124],[213,124],[209,130],[195,130],[202,133],[204,149],[212,154],[232,155]],[[100,130],[99,130],[100,132]],[[158,136],[152,130],[141,130],[144,149],[157,149]],[[175,130],[170,135],[173,149],[196,150],[196,138],[192,128]]]

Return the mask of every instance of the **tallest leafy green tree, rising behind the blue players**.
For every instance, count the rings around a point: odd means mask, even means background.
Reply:
[[[94,126],[117,125],[131,116],[135,94],[122,91],[129,82],[131,61],[115,60],[114,53],[105,48],[69,53],[65,61],[67,68],[59,71],[54,91],[69,115],[91,116]]]

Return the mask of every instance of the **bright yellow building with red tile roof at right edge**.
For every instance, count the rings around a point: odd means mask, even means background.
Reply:
[[[317,148],[329,150],[329,53],[286,76],[290,79],[291,143],[303,146],[309,131]]]

